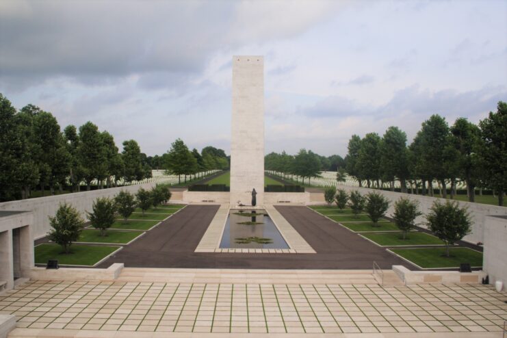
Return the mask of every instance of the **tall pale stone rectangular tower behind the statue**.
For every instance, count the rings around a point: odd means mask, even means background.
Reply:
[[[233,57],[231,205],[264,204],[264,59]]]

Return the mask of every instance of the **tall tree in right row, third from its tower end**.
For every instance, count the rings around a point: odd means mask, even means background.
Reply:
[[[402,192],[406,192],[408,179],[408,149],[406,148],[406,133],[398,127],[389,127],[380,142],[380,175],[383,181],[398,179]]]

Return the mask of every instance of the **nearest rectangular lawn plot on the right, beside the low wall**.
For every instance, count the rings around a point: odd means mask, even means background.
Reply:
[[[469,248],[450,248],[450,257],[445,257],[445,248],[391,249],[391,251],[421,268],[459,268],[460,263],[482,267],[482,252]]]

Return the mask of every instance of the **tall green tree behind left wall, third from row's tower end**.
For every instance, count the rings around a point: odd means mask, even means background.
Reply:
[[[86,190],[90,190],[92,181],[104,177],[107,172],[105,147],[99,128],[90,121],[79,127],[79,140],[79,163]]]

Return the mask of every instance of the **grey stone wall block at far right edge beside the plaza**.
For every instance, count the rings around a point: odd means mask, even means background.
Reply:
[[[507,283],[507,218],[486,217],[484,226],[484,261],[482,269],[489,283]]]

